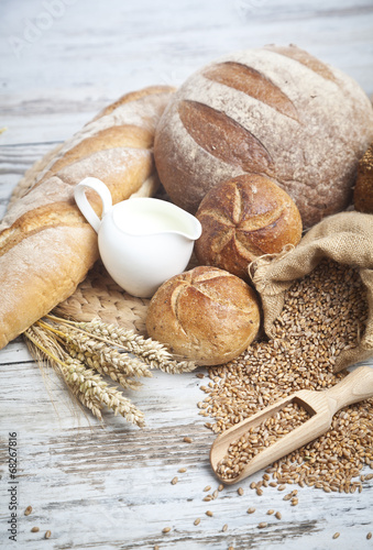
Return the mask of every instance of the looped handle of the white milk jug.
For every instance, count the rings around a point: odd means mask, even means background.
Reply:
[[[109,188],[105,185],[103,182],[98,179],[97,177],[86,177],[83,179],[77,186],[75,186],[74,189],[74,197],[76,200],[76,204],[83,213],[83,216],[86,218],[86,220],[91,224],[91,227],[95,229],[95,231],[98,233],[98,230],[100,229],[101,220],[88,202],[87,196],[86,196],[86,189],[94,189],[98,195],[100,196],[100,199],[102,200],[102,216],[103,216],[110,210],[112,207],[112,198]]]

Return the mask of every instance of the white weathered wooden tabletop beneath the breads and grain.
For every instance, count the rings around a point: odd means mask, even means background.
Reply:
[[[373,92],[372,0],[2,0],[0,29],[0,128],[8,128],[0,135],[0,217],[24,170],[105,105],[143,86],[177,86],[228,52],[295,43]],[[204,383],[196,373],[155,372],[133,395],[146,428],[111,415],[102,428],[72,406],[53,373],[43,378],[20,338],[8,344],[0,351],[0,547],[373,548],[372,482],[352,495],[299,490],[296,507],[275,488],[256,496],[249,483],[243,496],[232,486],[204,502],[204,487],[218,486],[208,462],[213,436],[196,406]],[[8,469],[13,432],[17,483]],[[178,474],[182,466],[187,472]],[[13,493],[17,541],[8,531]],[[248,515],[249,506],[256,513]],[[268,519],[268,508],[283,519]],[[257,529],[263,520],[268,527]]]

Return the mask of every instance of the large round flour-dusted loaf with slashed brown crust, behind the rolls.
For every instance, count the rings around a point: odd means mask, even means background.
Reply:
[[[261,174],[308,228],[351,202],[372,140],[372,106],[353,79],[296,46],[268,45],[190,76],[161,118],[154,151],[161,182],[186,210],[220,182]]]

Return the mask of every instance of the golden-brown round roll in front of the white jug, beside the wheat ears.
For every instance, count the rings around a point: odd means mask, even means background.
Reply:
[[[237,358],[259,328],[253,288],[226,271],[207,266],[166,280],[151,299],[146,317],[150,337],[201,365]]]

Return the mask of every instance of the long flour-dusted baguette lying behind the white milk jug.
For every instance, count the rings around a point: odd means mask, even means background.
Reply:
[[[0,224],[0,349],[70,296],[99,257],[97,234],[75,205],[75,185],[98,177],[113,204],[154,193],[154,132],[172,94],[150,87],[103,109],[12,202]],[[100,216],[99,197],[87,196]]]

